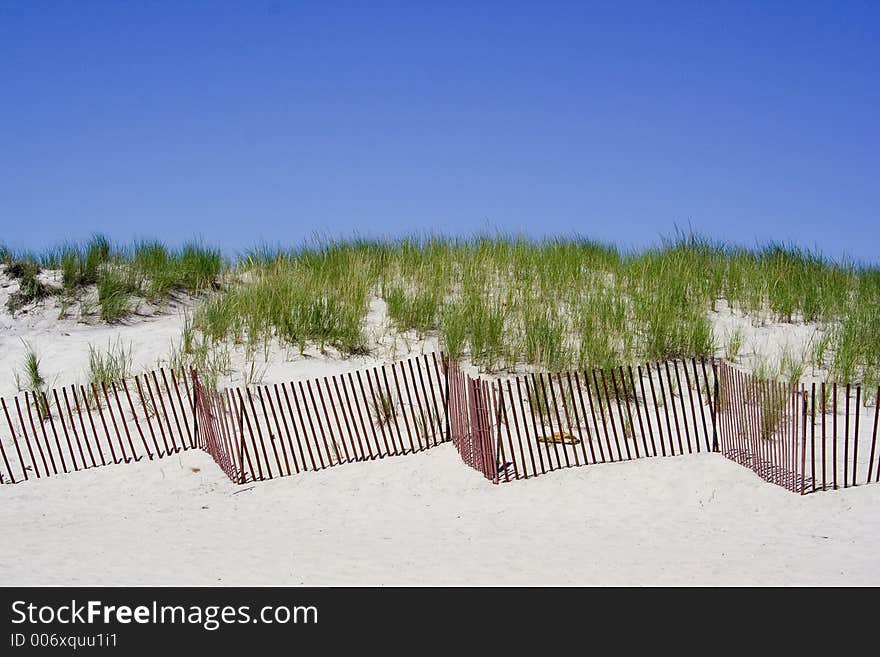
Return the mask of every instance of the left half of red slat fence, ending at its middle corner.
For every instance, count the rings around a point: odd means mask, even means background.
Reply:
[[[419,452],[448,440],[436,354],[323,378],[210,391],[160,369],[109,385],[0,399],[0,481],[199,447],[234,482]]]

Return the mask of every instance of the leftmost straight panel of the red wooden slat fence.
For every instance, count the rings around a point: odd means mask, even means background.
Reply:
[[[189,377],[165,369],[118,384],[25,391],[8,403],[0,398],[0,407],[4,483],[153,460],[196,446]]]

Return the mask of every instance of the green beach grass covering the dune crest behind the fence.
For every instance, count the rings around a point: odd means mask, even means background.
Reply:
[[[375,295],[398,331],[436,334],[447,352],[483,371],[736,357],[742,334],[716,344],[712,331],[709,311],[726,304],[755,324],[823,329],[810,353],[786,354],[776,375],[790,379],[809,361],[835,381],[880,382],[880,269],[781,243],[747,249],[678,233],[623,252],[576,236],[419,236],[261,246],[227,265],[197,244],[117,247],[95,237],[31,261],[61,268],[65,288],[96,285],[107,320],[124,316],[134,297],[211,291],[187,329],[196,346],[186,351],[182,341],[176,357],[204,364],[210,355],[215,374],[230,342],[249,354],[276,340],[300,352],[365,353]]]

